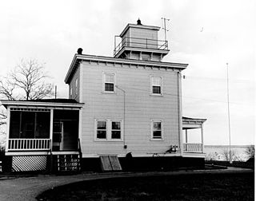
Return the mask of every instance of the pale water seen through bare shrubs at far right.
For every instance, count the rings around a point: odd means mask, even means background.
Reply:
[[[249,159],[246,149],[249,145],[232,145],[231,152],[234,161],[246,161]],[[206,153],[206,160],[229,160],[229,146],[228,145],[205,145],[204,152]]]

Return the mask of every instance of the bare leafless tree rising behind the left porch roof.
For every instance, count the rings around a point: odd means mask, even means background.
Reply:
[[[44,65],[37,60],[22,60],[7,77],[0,81],[0,95],[7,100],[38,100],[54,95],[54,85],[48,78]]]

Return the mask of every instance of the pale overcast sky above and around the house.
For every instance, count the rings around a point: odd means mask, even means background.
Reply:
[[[128,23],[162,27],[168,18],[166,62],[189,64],[182,71],[183,116],[206,118],[204,143],[254,144],[255,10],[253,0],[38,0],[4,1],[0,12],[0,76],[23,59],[45,63],[58,97],[68,97],[66,72],[77,49],[113,56],[114,35]],[[164,31],[158,33],[164,39]],[[228,67],[226,65],[228,63]],[[200,142],[198,131],[190,142]]]

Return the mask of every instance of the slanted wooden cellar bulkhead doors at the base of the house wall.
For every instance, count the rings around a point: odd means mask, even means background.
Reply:
[[[118,156],[100,156],[102,171],[122,171]]]

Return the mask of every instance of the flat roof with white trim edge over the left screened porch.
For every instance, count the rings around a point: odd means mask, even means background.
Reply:
[[[15,108],[26,107],[26,108],[82,108],[83,103],[78,103],[73,99],[42,99],[33,101],[8,101],[0,100],[5,108],[13,106]]]

